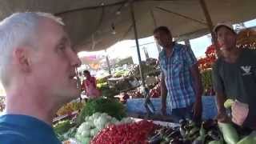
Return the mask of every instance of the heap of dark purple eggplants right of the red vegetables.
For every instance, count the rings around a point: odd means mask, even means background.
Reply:
[[[207,120],[202,124],[191,120],[182,120],[179,127],[163,127],[150,138],[150,144],[203,144],[212,141],[223,142],[217,122]]]

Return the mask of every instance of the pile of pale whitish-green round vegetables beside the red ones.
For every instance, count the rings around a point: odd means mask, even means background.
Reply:
[[[82,144],[90,143],[90,140],[94,138],[94,135],[98,134],[100,130],[109,126],[110,124],[119,125],[122,123],[133,122],[130,118],[123,118],[118,121],[117,118],[113,118],[106,113],[94,113],[90,117],[85,118],[85,122],[78,127],[75,138],[82,142]]]

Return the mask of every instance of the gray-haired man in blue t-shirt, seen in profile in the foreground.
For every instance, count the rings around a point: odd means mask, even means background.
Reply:
[[[1,143],[60,143],[52,120],[62,104],[78,98],[81,65],[60,18],[17,13],[0,22],[0,78],[6,111]]]

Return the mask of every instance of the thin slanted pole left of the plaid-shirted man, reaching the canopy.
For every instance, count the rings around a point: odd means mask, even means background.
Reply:
[[[141,53],[140,53],[139,45],[138,45],[138,31],[137,31],[136,21],[135,21],[135,17],[134,17],[134,5],[133,5],[133,1],[129,1],[129,3],[130,3],[130,15],[131,15],[131,20],[133,22],[134,37],[135,37],[137,53],[138,53],[139,71],[140,71],[140,76],[142,79],[142,86],[145,87],[145,79],[144,79],[144,74],[143,74],[143,70],[142,70],[142,58],[141,58]]]

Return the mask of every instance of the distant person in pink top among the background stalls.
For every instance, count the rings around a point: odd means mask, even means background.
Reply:
[[[98,98],[101,92],[97,89],[96,78],[90,75],[88,70],[83,71],[85,80],[82,81],[82,90],[86,91],[86,95],[89,98]]]

